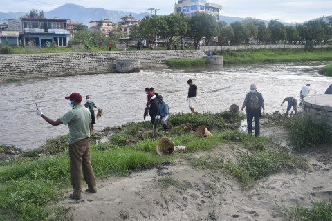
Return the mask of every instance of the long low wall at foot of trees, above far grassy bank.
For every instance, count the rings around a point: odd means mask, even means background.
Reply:
[[[250,50],[250,49],[297,49],[304,48],[301,44],[270,44],[270,45],[249,45],[249,46],[201,46],[199,49],[203,52],[213,52],[221,50]],[[316,48],[332,48],[332,45],[317,45]]]

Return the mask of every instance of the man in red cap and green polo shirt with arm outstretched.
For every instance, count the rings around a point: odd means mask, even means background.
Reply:
[[[36,114],[43,117],[48,124],[53,126],[68,124],[71,184],[74,188],[73,194],[69,195],[69,198],[80,200],[82,192],[82,169],[84,180],[88,184],[86,191],[90,193],[97,192],[95,175],[90,162],[89,137],[91,135],[91,113],[81,105],[82,96],[80,93],[75,92],[64,98],[69,100],[69,105],[73,109],[56,121],[46,117],[41,109],[36,108]]]

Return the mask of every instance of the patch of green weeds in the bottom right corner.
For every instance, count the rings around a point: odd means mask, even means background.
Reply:
[[[327,221],[332,220],[332,201],[322,200],[322,202],[312,202],[311,206],[295,205],[294,209],[284,206],[282,215],[289,221]]]

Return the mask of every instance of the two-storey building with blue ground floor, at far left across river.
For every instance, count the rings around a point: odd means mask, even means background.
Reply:
[[[21,44],[33,46],[67,46],[68,19],[9,19],[8,31],[19,32]],[[22,37],[21,37],[22,36]]]

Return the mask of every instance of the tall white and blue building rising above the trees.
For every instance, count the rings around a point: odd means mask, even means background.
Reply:
[[[215,3],[208,3],[206,0],[179,0],[174,6],[174,14],[183,12],[187,16],[194,15],[195,12],[207,12],[219,21],[219,11],[223,6]]]

